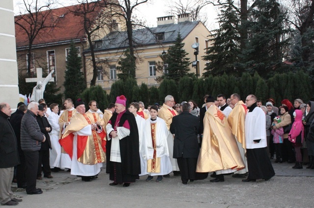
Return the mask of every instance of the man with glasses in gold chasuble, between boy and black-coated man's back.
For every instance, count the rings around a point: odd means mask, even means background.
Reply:
[[[183,103],[182,103],[183,104]],[[172,164],[173,175],[180,176],[180,169],[178,166],[177,159],[173,158],[173,138],[174,136],[170,133],[170,124],[172,123],[172,118],[178,116],[178,112],[175,111],[172,107],[175,105],[175,99],[172,95],[167,95],[165,97],[165,102],[163,103],[161,109],[158,111],[158,117],[162,118],[167,125],[169,135],[167,138],[170,161]],[[165,177],[169,177],[166,175]]]

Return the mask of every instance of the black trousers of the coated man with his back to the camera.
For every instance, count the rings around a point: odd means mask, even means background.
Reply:
[[[186,183],[189,179],[196,180],[197,158],[177,158],[181,180]]]

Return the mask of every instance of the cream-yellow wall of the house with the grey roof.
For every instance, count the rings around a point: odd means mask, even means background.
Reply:
[[[202,73],[204,72],[205,68],[205,61],[202,60],[202,56],[205,55],[205,44],[206,40],[209,39],[207,37],[209,35],[208,29],[202,24],[199,23],[191,32],[188,34],[188,36],[183,40],[184,49],[186,52],[188,52],[188,58],[190,58],[190,61],[195,60],[195,55],[194,49],[191,47],[193,43],[195,43],[195,37],[198,37],[199,39],[199,54],[198,54],[198,61],[200,62],[200,71],[201,71],[201,76]],[[161,61],[161,58],[159,55],[163,52],[163,50],[167,51],[168,47],[170,45],[155,45],[155,46],[145,46],[144,48],[139,48],[138,49],[138,55],[140,57],[140,60],[137,60],[136,64],[136,80],[137,84],[141,85],[141,83],[147,84],[149,87],[152,86],[159,86],[159,83],[156,81],[156,78],[160,76],[161,74],[157,72],[156,76],[149,76],[149,62],[151,61]],[[106,52],[99,52],[96,53],[97,57],[99,59],[103,60],[112,60],[109,61],[109,65],[116,65],[118,59],[121,56],[122,50],[115,50],[115,51],[106,51]],[[86,54],[86,59],[88,59],[89,55]],[[88,62],[88,61],[87,61]],[[89,64],[87,63],[86,66]],[[90,80],[92,79],[92,73],[91,73],[91,68],[87,67],[87,86],[90,85]],[[105,69],[106,72],[109,75],[109,69]],[[192,68],[192,64],[190,65],[190,72],[195,73],[195,68]],[[100,86],[102,86],[107,92],[110,92],[110,88],[112,83],[114,83],[115,80],[109,80],[107,76],[104,75],[104,80],[103,81],[97,81],[96,83]]]

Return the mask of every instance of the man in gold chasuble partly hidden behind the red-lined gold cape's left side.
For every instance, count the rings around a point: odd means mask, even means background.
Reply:
[[[60,136],[59,138],[62,138],[62,135],[64,134],[65,127],[67,127],[70,124],[70,119],[72,116],[75,115],[77,110],[73,107],[73,101],[72,99],[68,98],[64,101],[65,111],[60,115],[59,117],[59,125],[60,125]],[[64,151],[64,148],[61,147],[61,168],[71,168],[71,158],[69,154],[67,154]],[[70,171],[70,170],[68,170]]]

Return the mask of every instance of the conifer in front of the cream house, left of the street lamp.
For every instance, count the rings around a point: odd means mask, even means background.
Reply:
[[[168,64],[167,73],[163,73],[162,79],[172,79],[176,84],[179,83],[181,77],[189,75],[189,58],[186,58],[188,53],[183,49],[184,43],[182,42],[180,32],[173,46],[170,46],[165,55],[160,56],[164,64]]]

